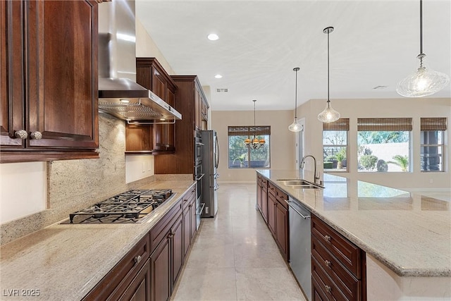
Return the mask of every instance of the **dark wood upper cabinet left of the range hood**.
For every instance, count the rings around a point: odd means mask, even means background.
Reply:
[[[2,163],[99,156],[97,5],[1,1]]]

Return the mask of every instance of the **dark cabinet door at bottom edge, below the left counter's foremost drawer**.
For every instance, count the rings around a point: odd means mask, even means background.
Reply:
[[[123,301],[150,301],[150,259],[133,279],[130,286],[119,300]]]

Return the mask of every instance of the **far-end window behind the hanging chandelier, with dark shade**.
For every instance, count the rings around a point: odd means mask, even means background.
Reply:
[[[245,139],[265,140],[259,149],[245,145]],[[228,127],[228,168],[270,168],[271,126],[242,125]]]

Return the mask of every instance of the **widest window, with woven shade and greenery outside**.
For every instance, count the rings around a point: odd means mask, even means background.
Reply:
[[[412,118],[357,118],[360,172],[410,171]]]

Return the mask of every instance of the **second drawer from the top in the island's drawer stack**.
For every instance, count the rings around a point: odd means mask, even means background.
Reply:
[[[327,272],[348,300],[361,299],[360,282],[314,236],[311,238],[311,256]]]

